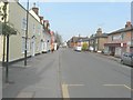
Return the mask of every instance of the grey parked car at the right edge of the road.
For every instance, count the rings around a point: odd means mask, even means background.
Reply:
[[[133,67],[133,53],[124,52],[121,57],[121,63]]]

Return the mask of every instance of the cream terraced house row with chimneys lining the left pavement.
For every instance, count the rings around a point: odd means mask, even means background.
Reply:
[[[3,2],[0,2],[0,7],[3,6]],[[10,36],[9,43],[9,61],[14,61],[24,58],[25,50],[25,30],[27,30],[27,10],[18,2],[8,2],[7,6],[7,22],[12,24],[17,30],[16,36]],[[19,14],[19,16],[18,16]],[[44,29],[43,17],[39,16],[39,9],[33,7],[28,11],[28,42],[27,51],[28,57],[35,56],[42,51],[50,50],[51,34],[49,28]],[[0,19],[2,21],[2,19]],[[2,46],[3,46],[3,36],[0,34],[0,61],[2,61]]]

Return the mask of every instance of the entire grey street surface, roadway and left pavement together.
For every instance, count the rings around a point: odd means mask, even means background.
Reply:
[[[4,69],[3,69],[4,80]],[[9,68],[3,98],[131,98],[131,67],[92,52],[61,48]]]

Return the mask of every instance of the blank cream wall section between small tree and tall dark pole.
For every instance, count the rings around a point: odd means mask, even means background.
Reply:
[[[22,19],[25,18],[25,11],[16,2],[10,2],[9,9],[9,22],[18,30],[17,36],[10,36],[9,59],[13,61],[24,57],[22,53],[22,37],[24,36],[22,34],[23,31],[21,28]]]

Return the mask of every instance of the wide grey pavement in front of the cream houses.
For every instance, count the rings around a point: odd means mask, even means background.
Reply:
[[[9,66],[9,83],[2,70],[3,98],[61,98],[59,51],[42,53]]]

